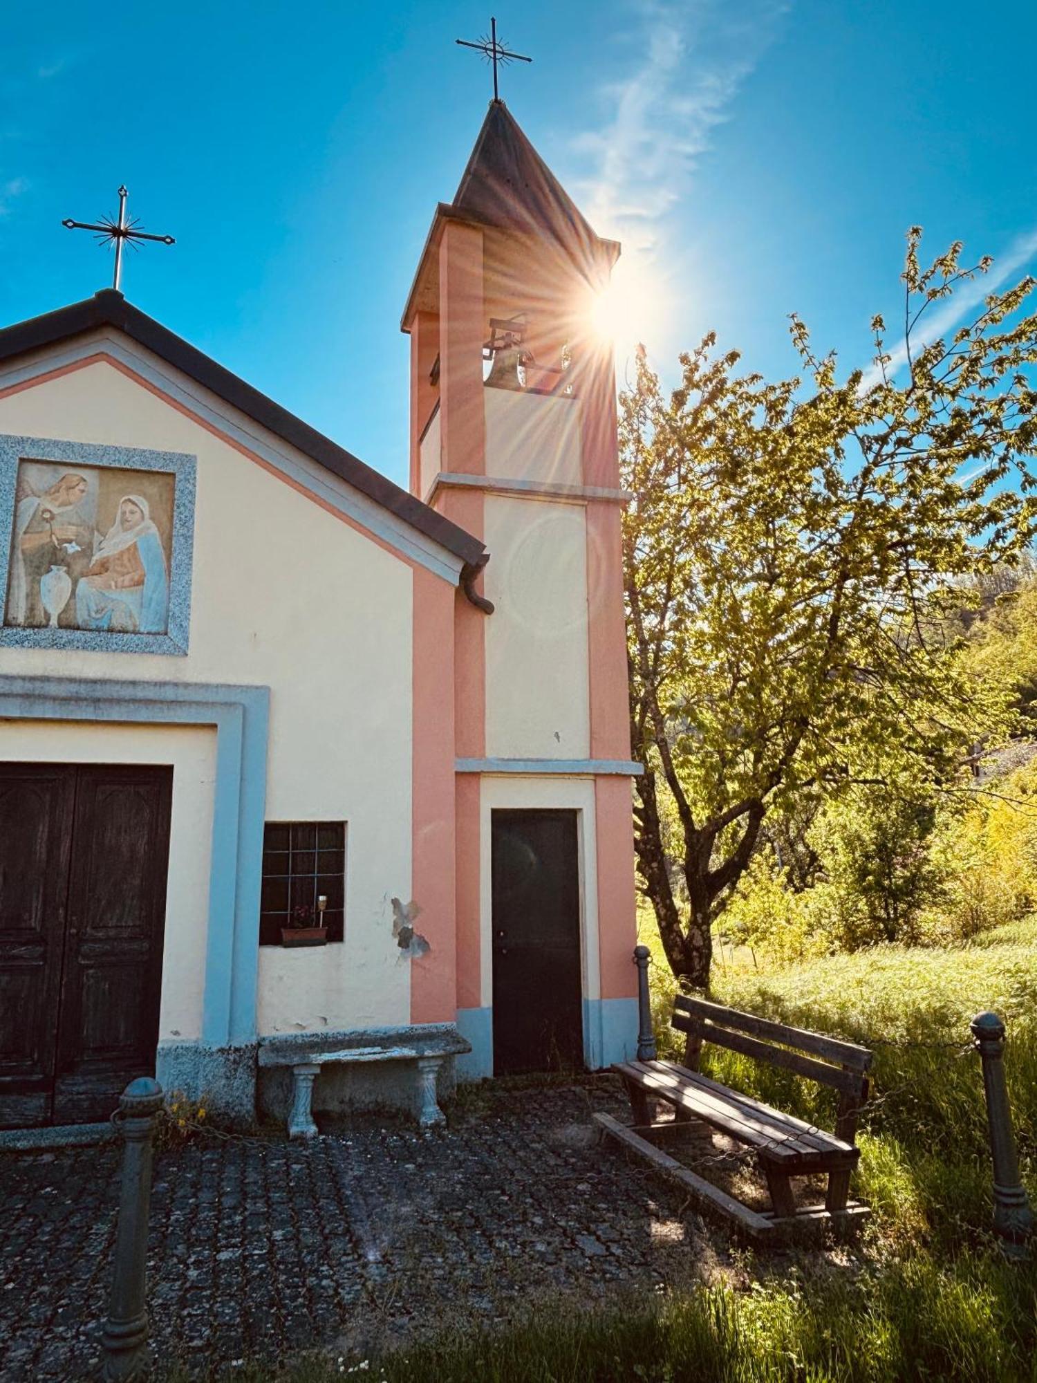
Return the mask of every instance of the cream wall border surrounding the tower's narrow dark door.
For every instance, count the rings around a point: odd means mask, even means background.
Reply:
[[[595,783],[581,777],[534,777],[517,773],[484,776],[480,787],[480,990],[494,1003],[494,870],[492,813],[506,808],[568,808],[577,812],[579,842],[581,963],[583,999],[599,999],[601,975],[597,946],[597,846]]]

